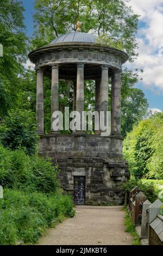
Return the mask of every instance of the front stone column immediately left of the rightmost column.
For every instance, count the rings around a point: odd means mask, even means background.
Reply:
[[[102,65],[100,111],[104,111],[104,113],[105,113],[105,118],[104,118],[105,125],[106,125],[106,111],[109,111],[108,71],[109,71],[109,66]]]

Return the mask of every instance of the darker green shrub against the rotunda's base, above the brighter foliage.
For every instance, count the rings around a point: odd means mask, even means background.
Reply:
[[[0,181],[3,187],[26,191],[54,192],[59,187],[57,166],[50,159],[28,156],[22,149],[10,150],[0,146]]]

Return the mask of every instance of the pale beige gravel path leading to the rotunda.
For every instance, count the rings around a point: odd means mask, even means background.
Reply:
[[[47,231],[39,245],[131,245],[121,206],[76,206],[76,216]]]

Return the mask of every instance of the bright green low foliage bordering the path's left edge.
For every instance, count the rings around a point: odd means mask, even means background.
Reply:
[[[65,217],[73,217],[73,203],[69,196],[58,193],[30,193],[4,190],[0,200],[0,244],[18,242],[34,244],[46,228]]]

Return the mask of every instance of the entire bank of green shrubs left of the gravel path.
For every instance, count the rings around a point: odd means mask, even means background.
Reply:
[[[50,159],[0,145],[0,245],[34,244],[46,228],[73,217],[73,203],[61,194]]]

